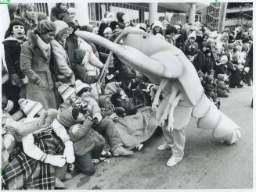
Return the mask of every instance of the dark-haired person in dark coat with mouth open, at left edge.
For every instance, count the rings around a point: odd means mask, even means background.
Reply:
[[[24,24],[20,20],[12,20],[5,36],[5,41],[2,44],[4,44],[5,62],[10,76],[5,90],[7,98],[14,103],[13,111],[16,111],[19,109],[18,100],[26,97],[25,84],[27,84],[27,79],[20,69],[21,44],[27,41]]]

